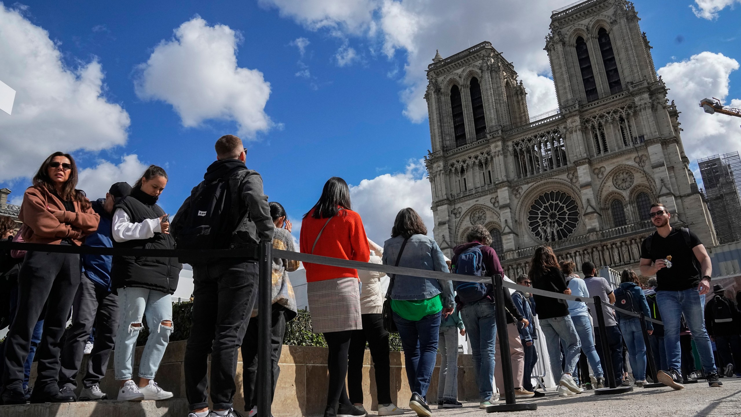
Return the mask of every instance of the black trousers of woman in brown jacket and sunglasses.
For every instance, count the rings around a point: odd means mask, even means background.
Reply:
[[[80,283],[80,256],[27,252],[18,283],[18,310],[5,344],[3,385],[7,390],[23,392],[23,364],[30,349],[33,327],[48,298],[44,332],[36,352],[39,366],[33,395],[59,393],[60,340]]]

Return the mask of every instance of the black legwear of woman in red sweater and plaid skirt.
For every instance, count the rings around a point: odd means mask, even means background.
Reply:
[[[329,355],[327,358],[327,369],[329,373],[329,387],[327,388],[327,409],[332,407],[333,413],[325,410],[325,416],[335,416],[339,404],[352,406],[348,398],[348,390],[345,390],[345,377],[348,375],[348,350],[350,349],[350,337],[352,330],[344,332],[324,333]]]

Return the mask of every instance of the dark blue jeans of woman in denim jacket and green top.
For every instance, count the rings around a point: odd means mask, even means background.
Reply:
[[[412,393],[427,399],[432,371],[437,360],[441,312],[426,315],[419,321],[411,321],[393,313],[393,321],[399,329],[404,349],[407,379]]]

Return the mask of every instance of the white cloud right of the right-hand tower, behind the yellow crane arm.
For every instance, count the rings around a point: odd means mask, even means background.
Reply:
[[[741,108],[741,99],[728,102],[728,84],[731,72],[739,63],[722,53],[702,52],[682,62],[671,62],[658,73],[671,90],[682,114],[679,122],[685,152],[691,160],[712,154],[724,154],[741,148],[740,119],[725,114],[706,114],[700,108],[700,99],[717,97],[725,105]]]

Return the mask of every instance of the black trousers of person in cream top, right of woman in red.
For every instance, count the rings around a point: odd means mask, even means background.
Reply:
[[[363,357],[365,342],[371,349],[373,370],[376,371],[376,395],[378,404],[391,404],[391,363],[388,355],[388,332],[383,328],[380,314],[361,315],[363,328],[353,330],[348,352],[348,394],[350,402],[363,402]]]

